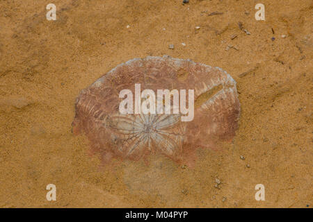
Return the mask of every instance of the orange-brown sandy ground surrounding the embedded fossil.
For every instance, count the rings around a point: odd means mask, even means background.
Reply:
[[[311,0],[55,0],[56,21],[48,3],[0,1],[0,207],[312,207]],[[71,132],[75,98],[122,62],[163,55],[232,75],[236,137],[193,169],[161,156],[102,166]]]

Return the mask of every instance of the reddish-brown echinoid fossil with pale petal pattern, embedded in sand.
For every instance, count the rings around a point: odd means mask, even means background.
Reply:
[[[186,107],[194,106],[193,119],[182,121],[184,114],[172,112],[174,105],[170,112],[122,114],[119,108],[124,98],[120,98],[120,92],[129,89],[136,94],[136,84],[140,84],[141,92],[193,89],[193,104],[186,102]],[[173,98],[170,96],[170,104]],[[93,150],[105,162],[112,157],[139,160],[161,153],[188,164],[196,148],[214,148],[219,141],[230,141],[239,113],[236,82],[222,69],[169,56],[149,56],[118,65],[83,89],[76,101],[72,126],[74,134],[87,135]]]

